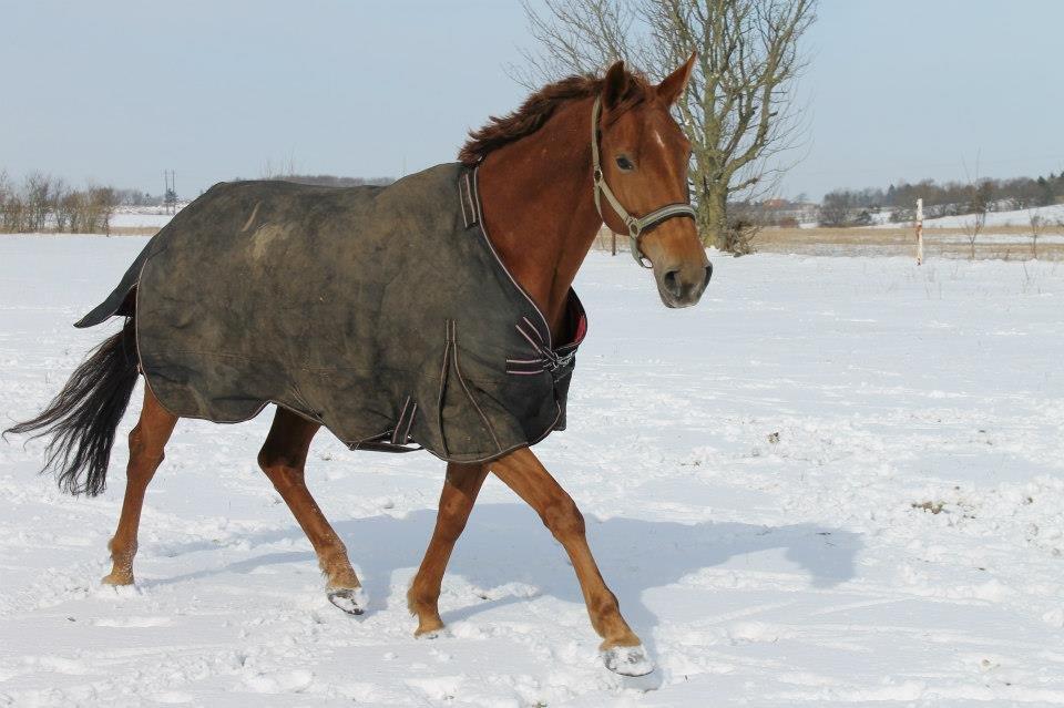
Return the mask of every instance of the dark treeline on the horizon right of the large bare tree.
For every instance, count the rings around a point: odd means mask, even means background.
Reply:
[[[900,182],[886,189],[835,189],[820,203],[820,225],[862,226],[872,222],[872,214],[883,209],[890,211],[891,222],[912,222],[920,198],[923,199],[924,218],[1050,206],[1064,202],[1064,172],[1040,177],[988,177],[941,184],[933,179],[912,184]]]

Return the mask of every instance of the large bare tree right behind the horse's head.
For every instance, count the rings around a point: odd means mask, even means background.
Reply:
[[[624,59],[661,79],[692,52],[698,60],[678,103],[693,146],[699,232],[718,248],[749,249],[728,203],[769,192],[781,153],[802,134],[796,80],[799,40],[816,0],[522,0],[538,47],[511,74],[529,88]]]

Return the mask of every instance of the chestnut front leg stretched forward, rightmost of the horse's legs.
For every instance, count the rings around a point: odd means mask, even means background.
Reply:
[[[584,517],[572,497],[528,448],[495,460],[491,463],[491,471],[535,510],[569,554],[584,594],[591,625],[603,639],[600,649],[606,667],[626,676],[653,671],[654,663],[621,616],[617,598],[602,579],[587,546]]]

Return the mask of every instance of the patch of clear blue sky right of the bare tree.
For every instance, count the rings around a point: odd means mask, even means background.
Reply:
[[[1060,0],[822,0],[784,192],[1064,168]]]

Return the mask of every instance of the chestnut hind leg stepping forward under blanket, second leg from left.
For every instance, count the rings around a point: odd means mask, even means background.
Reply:
[[[366,595],[351,568],[347,548],[304,481],[307,451],[318,428],[317,423],[278,407],[269,435],[258,453],[258,464],[310,540],[326,576],[329,602],[346,613],[360,615],[366,608]]]

